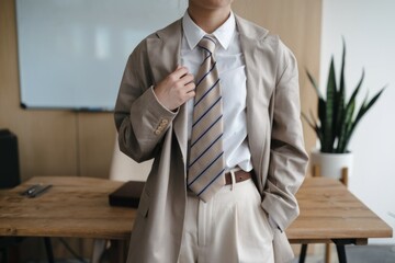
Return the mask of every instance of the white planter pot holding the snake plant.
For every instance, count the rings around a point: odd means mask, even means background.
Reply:
[[[321,176],[327,178],[341,178],[343,168],[348,169],[348,176],[352,174],[353,155],[348,153],[324,153],[318,150],[312,152],[312,164],[319,167]]]

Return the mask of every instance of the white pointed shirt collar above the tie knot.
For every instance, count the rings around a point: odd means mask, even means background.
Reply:
[[[207,34],[193,22],[188,11],[182,18],[182,27],[188,42],[188,46],[191,49],[193,49],[203,38],[203,36]],[[234,36],[235,30],[236,30],[235,15],[230,11],[229,18],[225,21],[224,24],[222,24],[218,28],[216,28],[212,35],[214,35],[217,38],[218,43],[224,49],[227,49]]]

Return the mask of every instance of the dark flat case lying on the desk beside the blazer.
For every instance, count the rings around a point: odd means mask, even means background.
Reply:
[[[111,206],[138,207],[145,182],[128,181],[109,195]]]

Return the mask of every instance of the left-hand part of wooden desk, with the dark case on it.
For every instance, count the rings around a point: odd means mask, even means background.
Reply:
[[[35,198],[20,195],[37,183],[53,187]],[[135,209],[109,205],[109,193],[122,184],[93,178],[42,176],[1,191],[0,236],[110,239],[122,250],[136,215]],[[121,253],[119,261],[124,263],[124,256]]]

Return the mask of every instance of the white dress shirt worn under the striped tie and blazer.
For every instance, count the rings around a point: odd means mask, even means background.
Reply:
[[[198,46],[205,33],[185,12],[182,19],[183,37],[181,43],[181,62],[189,72],[196,76],[203,61],[203,53]],[[215,60],[219,75],[224,105],[224,156],[225,171],[241,168],[252,170],[251,153],[247,142],[246,115],[246,70],[241,53],[239,34],[236,28],[235,15],[230,13],[228,20],[212,33],[218,41]],[[191,139],[193,100],[188,101],[189,114],[188,135]]]

